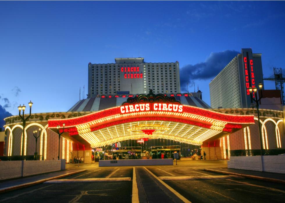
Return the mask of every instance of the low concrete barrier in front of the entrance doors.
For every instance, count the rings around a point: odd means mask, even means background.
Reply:
[[[156,166],[173,165],[173,159],[99,160],[99,166]]]

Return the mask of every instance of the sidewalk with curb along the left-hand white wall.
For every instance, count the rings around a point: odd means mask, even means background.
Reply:
[[[69,175],[73,175],[76,173],[81,173],[86,171],[86,169],[70,169],[70,170],[61,170],[51,173],[44,173],[39,175],[34,175],[30,177],[24,177],[13,180],[3,180],[0,182],[0,193],[4,193],[6,191],[15,190],[18,188],[28,187],[31,185],[43,183],[52,179],[58,179],[62,177],[66,177]]]

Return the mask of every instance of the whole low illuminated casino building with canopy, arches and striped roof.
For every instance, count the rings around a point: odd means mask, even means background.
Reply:
[[[283,111],[259,111],[263,149],[283,148]],[[260,150],[257,120],[255,109],[212,109],[191,94],[101,95],[68,112],[31,114],[24,134],[19,116],[5,118],[4,155],[33,156],[36,147],[37,159],[58,159],[59,151],[67,163],[174,159],[175,153],[181,160],[230,159],[231,151]]]

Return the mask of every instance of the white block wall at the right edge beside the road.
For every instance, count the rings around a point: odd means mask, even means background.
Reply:
[[[285,173],[285,155],[248,157],[231,156],[230,160],[228,161],[228,168]]]

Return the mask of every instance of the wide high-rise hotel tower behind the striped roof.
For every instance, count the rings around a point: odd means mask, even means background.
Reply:
[[[88,64],[88,98],[113,95],[180,93],[179,62],[148,63],[144,58],[115,58],[115,63]]]

